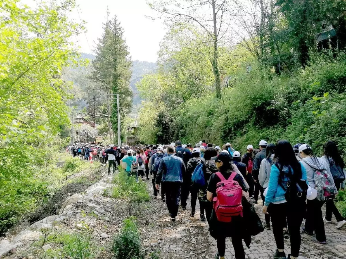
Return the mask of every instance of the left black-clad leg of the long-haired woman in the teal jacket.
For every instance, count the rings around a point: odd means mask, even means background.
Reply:
[[[273,234],[276,242],[276,248],[281,252],[285,248],[283,242],[284,221],[286,220],[285,203],[282,204],[270,204],[270,214],[272,218]]]

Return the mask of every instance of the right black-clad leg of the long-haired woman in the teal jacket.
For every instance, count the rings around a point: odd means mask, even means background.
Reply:
[[[291,256],[293,257],[299,256],[301,243],[300,226],[303,221],[303,213],[300,212],[302,210],[297,209],[286,207],[287,225],[291,241]]]

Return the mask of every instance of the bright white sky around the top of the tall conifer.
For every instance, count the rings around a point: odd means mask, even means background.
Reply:
[[[33,0],[23,0],[30,3]],[[61,0],[56,0],[60,3]],[[106,21],[106,9],[109,7],[110,16],[117,15],[121,26],[125,30],[126,44],[130,49],[132,60],[156,62],[159,42],[165,35],[166,27],[160,19],[151,20],[145,16],[153,16],[152,10],[145,0],[76,0],[79,5],[80,16],[86,21],[86,38],[93,51],[97,38],[102,34],[102,22]],[[69,16],[79,22],[78,12]],[[90,53],[84,33],[77,36],[81,52]],[[76,38],[73,36],[73,41]]]

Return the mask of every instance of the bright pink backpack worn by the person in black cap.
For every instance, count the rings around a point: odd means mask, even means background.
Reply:
[[[233,216],[243,217],[243,189],[237,181],[233,181],[237,173],[232,172],[228,180],[220,172],[217,172],[216,175],[221,180],[216,185],[216,197],[213,199],[218,221],[231,222]]]

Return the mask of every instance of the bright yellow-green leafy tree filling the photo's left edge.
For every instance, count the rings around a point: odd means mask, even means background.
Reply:
[[[66,114],[63,67],[77,53],[69,38],[81,25],[61,6],[38,2],[36,9],[18,0],[0,3],[0,232],[47,192],[39,169],[49,163]]]

